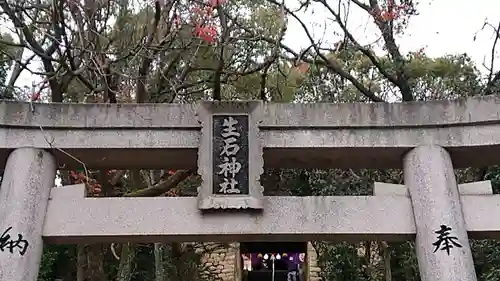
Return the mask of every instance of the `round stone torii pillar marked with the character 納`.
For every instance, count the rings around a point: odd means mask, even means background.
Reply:
[[[0,187],[0,280],[37,280],[55,175],[55,158],[43,149],[18,148],[9,155]]]

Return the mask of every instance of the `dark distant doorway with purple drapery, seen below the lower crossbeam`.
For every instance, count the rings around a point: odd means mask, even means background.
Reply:
[[[306,242],[240,243],[242,281],[306,281]]]

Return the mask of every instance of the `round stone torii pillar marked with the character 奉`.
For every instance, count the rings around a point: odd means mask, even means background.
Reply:
[[[422,281],[476,281],[448,152],[434,145],[414,148],[404,157],[404,181],[413,205]]]

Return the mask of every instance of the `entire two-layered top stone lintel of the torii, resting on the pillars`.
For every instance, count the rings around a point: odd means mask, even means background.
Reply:
[[[260,137],[273,168],[400,168],[411,148],[445,147],[455,167],[500,163],[500,97],[411,103],[265,104]],[[24,146],[62,168],[195,168],[193,104],[0,103],[0,165]],[[71,155],[71,156],[68,156]],[[0,166],[0,169],[2,166]]]

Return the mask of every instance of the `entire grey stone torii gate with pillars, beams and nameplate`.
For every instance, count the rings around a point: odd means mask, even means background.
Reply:
[[[416,239],[422,280],[475,281],[468,238],[499,237],[492,215],[500,195],[489,182],[457,185],[453,168],[500,163],[499,103],[488,96],[32,110],[2,102],[0,280],[35,281],[42,240]],[[52,188],[56,169],[79,161],[96,169],[198,167],[203,184],[198,198],[85,198],[82,185]],[[405,185],[376,183],[374,196],[263,197],[263,167],[402,167]]]

